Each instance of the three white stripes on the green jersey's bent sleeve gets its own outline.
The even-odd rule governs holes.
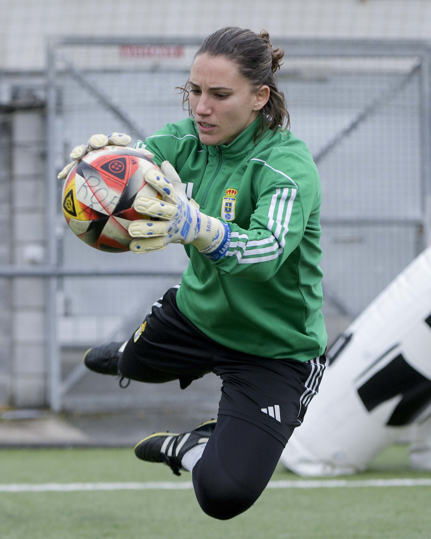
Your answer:
[[[226,255],[230,257],[235,255],[239,264],[254,264],[279,257],[286,244],[285,236],[289,232],[296,193],[295,188],[275,189],[268,210],[268,230],[271,235],[263,239],[249,240],[247,234],[232,232],[230,248]]]

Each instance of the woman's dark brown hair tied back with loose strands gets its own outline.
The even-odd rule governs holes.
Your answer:
[[[234,60],[239,65],[241,74],[256,89],[263,85],[269,86],[269,99],[260,110],[261,125],[254,134],[255,141],[268,129],[289,128],[286,101],[284,94],[277,88],[275,77],[275,72],[282,65],[284,52],[280,47],[273,48],[267,31],[262,30],[260,34],[256,34],[248,29],[226,26],[208,36],[194,58],[199,54],[224,56]],[[186,84],[179,89],[183,92],[183,103],[188,104],[189,86]],[[191,114],[190,107],[189,113]]]

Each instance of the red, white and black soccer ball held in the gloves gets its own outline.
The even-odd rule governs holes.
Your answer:
[[[84,156],[67,175],[61,194],[72,232],[100,251],[129,251],[130,222],[150,219],[134,210],[136,195],[162,198],[145,182],[150,169],[158,170],[156,163],[133,148],[107,146]]]

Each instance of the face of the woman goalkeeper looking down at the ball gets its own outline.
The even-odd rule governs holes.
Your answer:
[[[223,56],[199,54],[190,71],[189,103],[200,141],[207,146],[231,143],[258,116],[269,99],[269,87],[258,91]]]

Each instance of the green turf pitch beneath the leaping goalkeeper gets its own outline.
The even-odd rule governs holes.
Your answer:
[[[129,449],[0,450],[0,483],[190,481]],[[431,478],[394,446],[354,480]],[[298,479],[278,467],[274,480]],[[431,487],[267,489],[217,521],[193,490],[0,493],[1,539],[429,539]]]

